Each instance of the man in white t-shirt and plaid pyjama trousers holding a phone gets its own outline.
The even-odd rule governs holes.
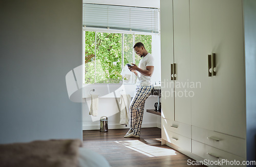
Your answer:
[[[134,45],[134,51],[142,59],[138,66],[132,64],[129,66],[130,71],[134,72],[137,76],[137,87],[135,90],[135,96],[130,104],[130,130],[124,137],[140,137],[140,130],[142,124],[142,118],[144,113],[144,105],[148,96],[151,94],[153,85],[151,83],[151,76],[154,72],[154,59],[153,56],[148,53],[143,43],[138,42]]]

